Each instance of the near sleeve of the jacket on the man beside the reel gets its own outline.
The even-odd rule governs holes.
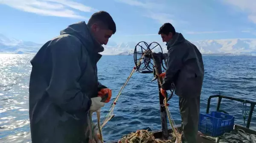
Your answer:
[[[183,49],[181,47],[174,47],[169,49],[166,65],[166,76],[163,79],[162,89],[170,90],[171,84],[175,76],[183,66]]]

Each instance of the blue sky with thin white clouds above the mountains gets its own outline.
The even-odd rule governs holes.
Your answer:
[[[44,43],[99,10],[116,22],[117,43],[160,41],[164,22],[192,41],[256,38],[255,0],[0,0],[0,33]]]

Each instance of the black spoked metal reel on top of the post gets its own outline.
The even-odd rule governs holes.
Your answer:
[[[148,43],[141,41],[139,42],[134,49],[134,64],[137,68],[137,71],[142,73],[143,70],[148,70],[148,72],[152,72],[154,62],[151,57],[144,57],[145,53],[163,53],[162,47],[157,42],[152,42],[148,45]],[[151,55],[151,54],[149,54]],[[163,66],[163,63],[162,63]],[[166,68],[163,66],[166,70]],[[144,71],[145,73],[145,71]]]

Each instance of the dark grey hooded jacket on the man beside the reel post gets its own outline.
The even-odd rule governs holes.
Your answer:
[[[170,90],[175,84],[175,94],[184,97],[197,97],[201,95],[204,79],[204,63],[198,48],[186,40],[182,34],[176,33],[167,42],[168,54],[166,77],[162,88]]]

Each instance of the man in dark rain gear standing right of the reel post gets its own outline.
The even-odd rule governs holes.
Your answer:
[[[200,95],[204,79],[204,63],[198,48],[177,33],[170,23],[160,27],[158,34],[167,45],[166,72],[161,93],[172,89],[175,85],[175,94],[179,96],[180,115],[182,120],[182,142],[196,143],[198,133],[198,119],[200,110]]]

